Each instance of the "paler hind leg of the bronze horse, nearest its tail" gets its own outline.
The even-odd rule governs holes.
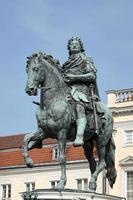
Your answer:
[[[91,180],[89,182],[89,189],[95,191],[96,187],[97,187],[97,177],[99,175],[100,172],[102,172],[105,168],[106,168],[106,163],[105,163],[105,151],[106,148],[105,147],[101,147],[98,150],[98,154],[99,154],[99,162],[98,165],[96,167],[95,172],[91,175]]]

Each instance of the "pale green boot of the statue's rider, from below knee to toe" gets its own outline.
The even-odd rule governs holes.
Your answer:
[[[74,140],[74,146],[82,146],[84,144],[84,131],[86,128],[87,119],[86,117],[77,119],[77,134],[76,139]]]

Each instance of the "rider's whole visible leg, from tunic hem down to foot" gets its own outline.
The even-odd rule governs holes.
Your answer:
[[[77,111],[77,134],[76,139],[74,141],[74,146],[80,146],[84,144],[84,131],[87,124],[85,108],[82,104],[76,105]]]

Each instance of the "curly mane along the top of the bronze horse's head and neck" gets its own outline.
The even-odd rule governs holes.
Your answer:
[[[45,59],[52,66],[55,66],[56,68],[58,68],[61,71],[61,65],[60,65],[59,60],[54,59],[53,56],[51,56],[51,55],[48,55],[48,54],[43,53],[41,51],[39,51],[38,53],[33,53],[31,56],[27,57],[27,65],[30,64],[30,62],[33,59],[38,59],[39,61],[43,61],[43,59]]]

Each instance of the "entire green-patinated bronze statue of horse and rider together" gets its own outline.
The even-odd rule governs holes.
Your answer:
[[[115,144],[112,137],[113,118],[109,108],[100,102],[96,68],[85,55],[82,41],[71,38],[69,58],[60,66],[51,55],[39,52],[27,60],[26,93],[37,95],[41,90],[36,112],[38,129],[24,137],[23,156],[28,167],[33,167],[28,150],[38,148],[46,138],[59,143],[60,181],[56,188],[63,190],[66,177],[65,148],[67,141],[82,145],[91,170],[89,189],[96,190],[98,174],[106,169],[106,177],[113,187],[116,179]],[[96,145],[99,162],[93,156]]]

